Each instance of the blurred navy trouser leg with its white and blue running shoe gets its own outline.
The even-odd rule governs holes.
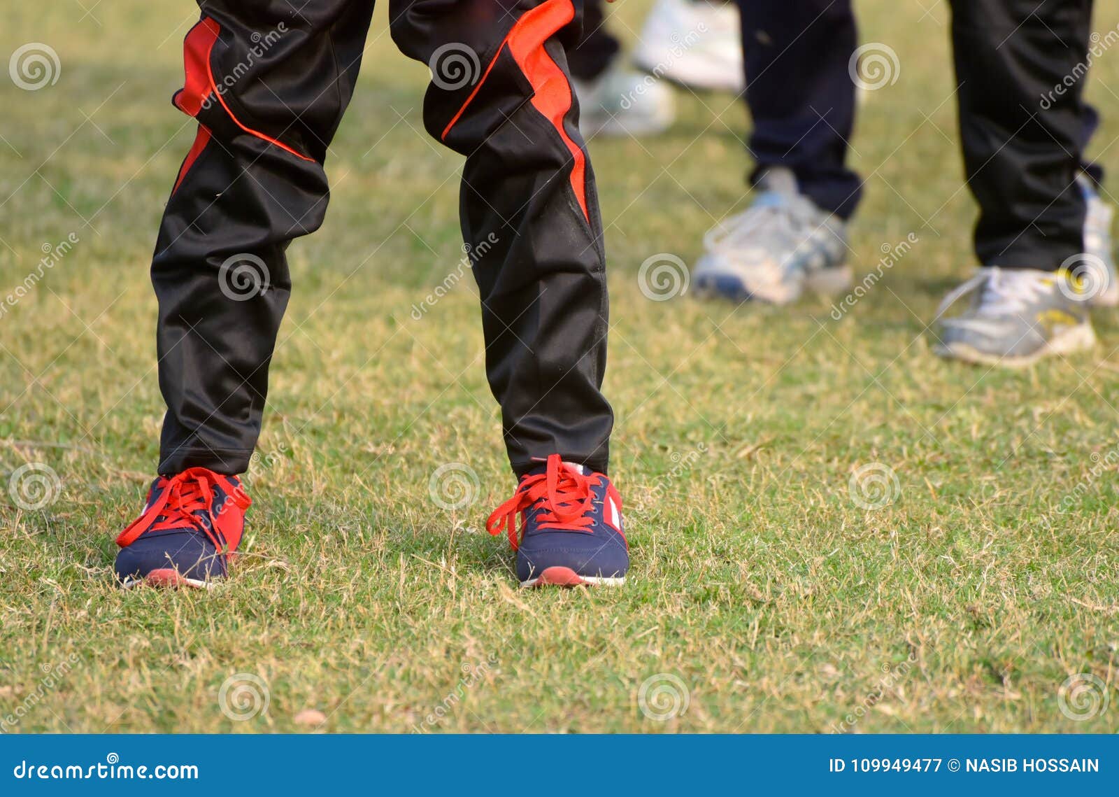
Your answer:
[[[752,205],[705,238],[700,296],[783,304],[850,283],[846,222],[862,196],[847,168],[855,120],[850,0],[740,0]]]

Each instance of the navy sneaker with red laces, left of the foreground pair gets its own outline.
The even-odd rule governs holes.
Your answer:
[[[190,468],[160,476],[143,514],[116,537],[116,579],[124,588],[210,587],[224,579],[252,500],[236,476]]]

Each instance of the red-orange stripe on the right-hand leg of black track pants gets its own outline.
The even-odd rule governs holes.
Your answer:
[[[498,47],[493,60],[486,67],[481,79],[474,86],[474,91],[470,93],[462,107],[443,130],[441,139],[446,140],[451,128],[455,125],[486,83],[486,78],[501,55],[501,50],[508,47],[513,59],[517,62],[517,66],[520,67],[533,86],[533,106],[552,123],[552,126],[560,133],[564,146],[571,151],[575,161],[571,169],[571,187],[575,191],[575,199],[583,210],[583,216],[590,222],[591,216],[586,209],[586,156],[564,129],[564,119],[572,109],[574,93],[564,71],[544,49],[544,43],[574,18],[575,7],[572,4],[572,0],[546,0],[530,11],[526,11],[514,24],[501,46]]]

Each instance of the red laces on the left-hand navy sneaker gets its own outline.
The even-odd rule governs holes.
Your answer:
[[[217,533],[218,516],[214,514],[214,486],[222,478],[208,468],[188,468],[167,479],[162,485],[163,491],[159,498],[140,517],[130,523],[128,528],[121,532],[120,536],[116,537],[116,544],[126,547],[137,537],[149,531],[196,527],[201,528],[214,546],[222,551],[225,547],[225,541]],[[239,486],[232,491],[227,486],[223,486],[223,489],[229,496],[226,504],[223,505],[223,510],[229,501],[243,512],[253,503]],[[200,523],[195,514],[199,509],[209,516],[208,526]],[[157,522],[160,515],[163,516],[163,519]]]

